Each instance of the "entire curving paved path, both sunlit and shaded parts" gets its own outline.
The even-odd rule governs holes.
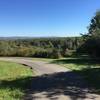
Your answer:
[[[24,100],[100,100],[91,93],[78,74],[56,64],[32,61],[32,58],[1,57],[0,60],[21,63],[36,72]]]

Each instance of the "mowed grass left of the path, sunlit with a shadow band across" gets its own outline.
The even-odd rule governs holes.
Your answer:
[[[24,65],[0,61],[0,100],[21,100],[32,74],[32,70]]]

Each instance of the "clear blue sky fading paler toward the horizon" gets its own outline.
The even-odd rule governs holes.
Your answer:
[[[0,0],[0,36],[78,36],[100,0]]]

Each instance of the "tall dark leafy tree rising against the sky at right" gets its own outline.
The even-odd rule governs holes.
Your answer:
[[[87,53],[91,56],[100,57],[100,11],[97,11],[91,19],[88,33],[83,37],[85,42],[80,46],[78,51]]]

